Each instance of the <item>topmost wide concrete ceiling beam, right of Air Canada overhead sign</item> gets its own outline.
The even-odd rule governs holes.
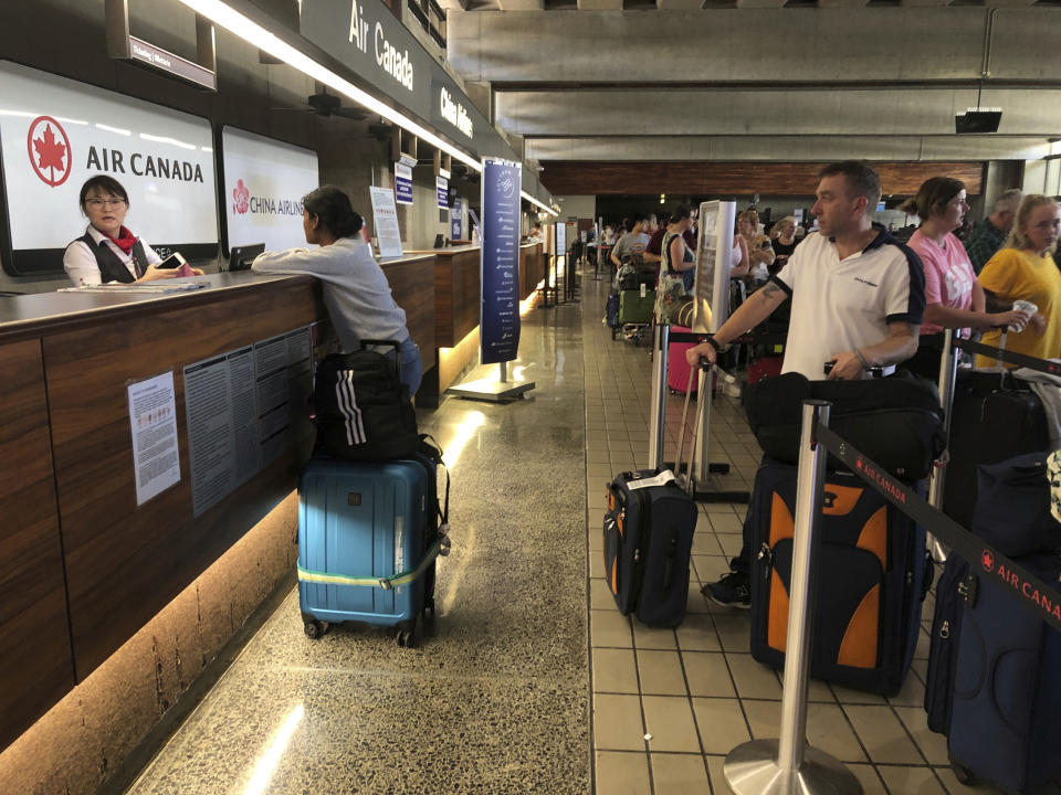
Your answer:
[[[612,9],[621,4],[607,1]],[[641,83],[903,83],[979,80],[986,17],[975,7],[477,12],[453,14],[447,39],[450,63],[462,75],[494,84],[609,82],[618,75]],[[991,77],[1061,74],[1059,35],[1058,9],[998,11]]]

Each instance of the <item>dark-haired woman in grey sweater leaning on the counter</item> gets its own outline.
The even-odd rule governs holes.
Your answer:
[[[406,312],[395,303],[387,276],[358,234],[361,216],[354,212],[346,193],[332,186],[304,195],[302,206],[306,243],[319,248],[265,252],[251,267],[260,273],[317,277],[344,351],[358,350],[363,339],[401,342],[401,380],[412,398],[423,375],[420,349],[409,337]]]

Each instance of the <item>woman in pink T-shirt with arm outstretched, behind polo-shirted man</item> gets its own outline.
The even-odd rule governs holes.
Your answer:
[[[939,378],[944,329],[959,329],[960,336],[968,337],[970,328],[978,331],[1009,325],[1023,328],[1028,316],[1012,310],[985,311],[984,290],[977,284],[965,246],[954,235],[969,210],[965,183],[949,177],[933,177],[900,209],[921,219],[921,226],[910,239],[910,247],[917,252],[925,268],[921,341],[914,358],[904,367],[935,381]]]

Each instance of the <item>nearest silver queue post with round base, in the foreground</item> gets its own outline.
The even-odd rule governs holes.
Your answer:
[[[862,785],[848,767],[807,743],[807,680],[813,632],[810,592],[820,540],[827,452],[815,441],[818,423],[829,425],[829,403],[805,401],[800,430],[796,530],[792,550],[785,690],[778,740],[753,740],[726,756],[726,783],[737,795],[859,795]]]

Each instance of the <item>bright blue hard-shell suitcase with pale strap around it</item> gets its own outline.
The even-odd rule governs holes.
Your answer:
[[[434,563],[449,549],[445,529],[435,462],[428,456],[309,460],[298,486],[298,603],[306,635],[363,622],[397,627],[398,645],[414,645],[418,618],[434,613]]]

